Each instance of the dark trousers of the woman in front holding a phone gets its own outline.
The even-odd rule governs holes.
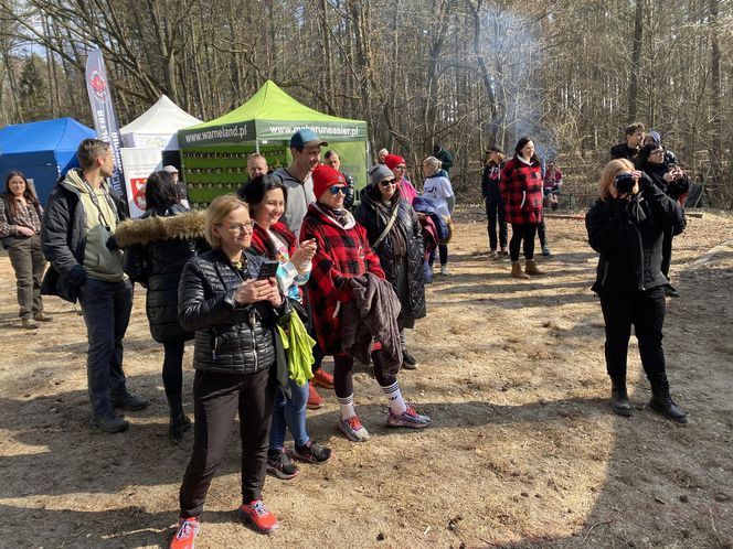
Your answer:
[[[181,517],[201,515],[237,411],[242,438],[242,503],[262,498],[275,384],[268,368],[256,374],[196,370],[193,451],[181,485]]]

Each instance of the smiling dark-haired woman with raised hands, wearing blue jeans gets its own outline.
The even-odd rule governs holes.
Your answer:
[[[255,220],[251,251],[280,262],[277,279],[284,293],[302,303],[300,287],[310,277],[310,260],[316,252],[316,243],[306,241],[297,246],[295,235],[280,222],[287,202],[287,189],[270,175],[253,179],[245,189],[244,200],[249,205],[249,215]],[[295,314],[295,313],[291,313]],[[308,365],[310,370],[310,365]],[[312,372],[310,373],[312,375]],[[306,405],[308,381],[288,379],[290,395],[283,389],[275,394],[273,420],[269,428],[267,473],[277,478],[289,480],[298,475],[298,467],[285,451],[285,431],[290,429],[295,448],[293,456],[306,462],[321,464],[331,458],[331,449],[319,444],[308,435]]]

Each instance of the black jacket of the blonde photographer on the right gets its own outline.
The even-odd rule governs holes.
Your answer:
[[[596,293],[649,290],[669,281],[660,270],[662,235],[684,230],[679,204],[665,195],[647,176],[631,202],[597,200],[585,215],[591,247],[601,254]]]

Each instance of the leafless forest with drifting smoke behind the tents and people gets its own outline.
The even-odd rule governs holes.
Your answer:
[[[0,0],[0,126],[92,126],[84,67],[100,47],[120,126],[161,94],[210,120],[269,78],[366,120],[373,154],[386,147],[414,168],[442,143],[458,193],[478,186],[487,147],[509,152],[523,134],[592,193],[639,120],[733,207],[732,3]]]

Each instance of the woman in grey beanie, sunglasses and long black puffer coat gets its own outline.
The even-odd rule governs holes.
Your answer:
[[[407,351],[405,329],[425,316],[425,278],[423,276],[423,235],[417,214],[402,200],[395,176],[385,165],[370,170],[371,184],[361,195],[354,212],[366,229],[369,244],[380,258],[384,276],[392,283],[402,311],[397,319],[403,367],[415,369],[417,360]]]

